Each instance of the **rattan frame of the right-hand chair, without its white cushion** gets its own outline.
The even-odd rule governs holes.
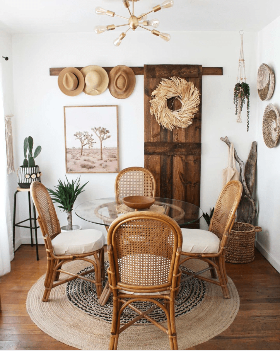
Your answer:
[[[208,267],[196,273],[189,273],[182,270],[189,277],[184,278],[186,280],[190,277],[199,278],[205,280],[206,282],[214,283],[222,288],[224,298],[230,298],[228,290],[228,279],[225,266],[225,252],[228,236],[231,233],[234,221],[235,212],[239,205],[242,195],[242,184],[238,180],[229,181],[222,189],[219,198],[215,204],[213,216],[210,221],[209,231],[214,233],[220,239],[220,246],[218,252],[216,253],[189,253],[184,252],[184,245],[182,249],[182,256],[184,258],[181,260],[180,265],[185,261],[197,258],[208,263]],[[195,229],[193,230],[195,232]],[[184,229],[182,229],[183,241],[188,240],[187,236],[184,234]],[[210,270],[211,277],[205,277],[201,274]],[[218,276],[218,277],[217,277]],[[182,280],[182,281],[183,281]]]

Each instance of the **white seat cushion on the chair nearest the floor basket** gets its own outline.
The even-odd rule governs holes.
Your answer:
[[[220,239],[209,230],[182,228],[182,251],[189,253],[217,253]]]

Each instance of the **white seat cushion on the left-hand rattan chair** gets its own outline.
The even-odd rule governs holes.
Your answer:
[[[52,240],[55,255],[72,255],[101,249],[105,244],[104,234],[100,230],[69,230],[58,234]]]

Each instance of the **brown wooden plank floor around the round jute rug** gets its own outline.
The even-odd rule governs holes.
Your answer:
[[[76,350],[42,332],[26,312],[27,293],[46,270],[43,245],[39,258],[35,246],[21,245],[11,272],[1,277],[0,350]],[[239,312],[227,330],[192,349],[280,349],[280,274],[258,251],[251,263],[226,266],[239,292]]]

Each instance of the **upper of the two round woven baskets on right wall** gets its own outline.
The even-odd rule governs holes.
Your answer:
[[[266,64],[261,64],[258,69],[257,88],[262,101],[269,100],[272,97],[274,91],[274,73]]]

